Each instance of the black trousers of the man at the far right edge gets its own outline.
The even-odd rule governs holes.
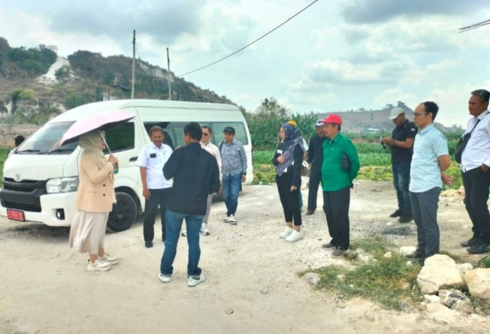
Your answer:
[[[481,167],[463,172],[465,206],[473,224],[473,237],[490,242],[490,214],[486,201],[489,199],[490,171]]]

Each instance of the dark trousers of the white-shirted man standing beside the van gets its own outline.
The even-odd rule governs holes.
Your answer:
[[[153,241],[155,232],[155,216],[157,215],[158,206],[160,206],[160,215],[162,219],[162,240],[165,240],[165,211],[167,211],[167,202],[169,201],[172,188],[165,189],[148,189],[150,198],[145,200],[145,217],[143,220],[143,237],[145,241]]]

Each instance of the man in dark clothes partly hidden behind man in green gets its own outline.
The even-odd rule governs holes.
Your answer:
[[[323,131],[323,120],[315,123],[316,136],[309,139],[308,163],[309,169],[309,186],[308,186],[308,211],[307,215],[314,214],[316,210],[316,195],[318,186],[321,182],[321,164],[323,163],[323,142],[327,137]]]

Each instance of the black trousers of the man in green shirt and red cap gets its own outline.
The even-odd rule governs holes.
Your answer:
[[[323,211],[327,216],[330,244],[344,250],[349,249],[349,204],[351,188],[323,192]]]

